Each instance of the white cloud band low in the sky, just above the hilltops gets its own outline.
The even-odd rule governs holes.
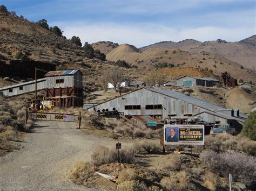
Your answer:
[[[109,40],[118,44],[131,44],[142,47],[159,41],[180,41],[196,39],[199,41],[225,39],[239,41],[255,34],[253,27],[183,27],[174,28],[158,24],[115,24],[115,23],[74,23],[72,26],[59,24],[64,36],[78,36],[82,42],[96,43]]]

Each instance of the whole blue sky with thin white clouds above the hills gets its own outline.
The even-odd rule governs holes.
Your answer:
[[[46,19],[67,38],[142,47],[159,41],[239,41],[256,32],[251,0],[0,0],[31,21]]]

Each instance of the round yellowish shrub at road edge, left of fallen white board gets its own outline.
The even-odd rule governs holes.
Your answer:
[[[78,184],[82,184],[93,175],[93,168],[88,162],[77,163],[69,174],[69,178]]]

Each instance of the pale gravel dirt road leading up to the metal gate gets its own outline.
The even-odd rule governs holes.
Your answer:
[[[76,123],[37,122],[21,150],[0,158],[0,189],[79,189],[68,179],[73,164],[90,160],[100,145],[114,140],[83,135]]]

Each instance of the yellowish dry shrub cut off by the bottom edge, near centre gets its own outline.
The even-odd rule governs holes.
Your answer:
[[[140,190],[140,191],[146,191],[147,190],[147,186],[144,182],[139,182],[137,181],[125,181],[120,183],[117,186],[117,190],[126,190],[126,191],[133,191],[133,190]]]

